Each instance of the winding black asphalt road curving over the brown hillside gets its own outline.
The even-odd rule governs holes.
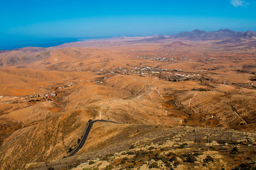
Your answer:
[[[84,135],[83,135],[83,138],[82,140],[80,141],[79,145],[76,147],[76,149],[72,150],[72,152],[67,156],[67,157],[71,157],[73,155],[75,155],[83,146],[84,146],[84,143],[92,129],[92,125],[95,123],[95,122],[111,122],[111,123],[114,123],[114,124],[121,124],[121,123],[118,123],[118,122],[113,122],[113,121],[110,121],[110,120],[92,120],[91,122],[89,122],[87,128],[86,128],[86,131],[84,132]]]

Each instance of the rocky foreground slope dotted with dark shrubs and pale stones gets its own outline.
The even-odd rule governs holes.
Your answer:
[[[127,134],[92,152],[26,164],[26,169],[253,169],[255,137],[223,128],[131,125]]]

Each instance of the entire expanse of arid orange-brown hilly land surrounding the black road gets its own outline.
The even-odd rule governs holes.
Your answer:
[[[1,169],[252,165],[254,40],[223,44],[220,39],[157,36],[141,41],[148,38],[93,39],[0,53]],[[97,122],[83,148],[63,158],[95,119],[122,124]],[[177,160],[170,160],[170,152]],[[208,155],[214,162],[205,160]]]

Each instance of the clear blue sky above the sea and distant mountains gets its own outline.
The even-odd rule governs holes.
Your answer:
[[[0,41],[256,31],[256,0],[1,0]]]

